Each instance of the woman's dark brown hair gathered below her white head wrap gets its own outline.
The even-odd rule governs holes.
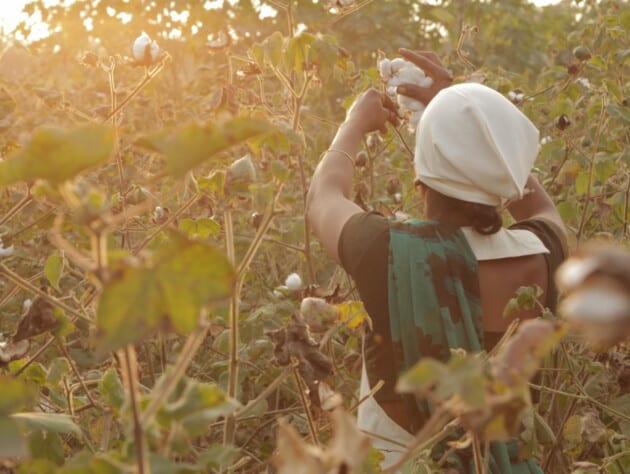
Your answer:
[[[449,221],[459,226],[471,226],[483,235],[494,234],[503,226],[501,215],[494,206],[452,198],[425,184],[422,187],[424,198],[430,202],[435,215],[448,216]]]

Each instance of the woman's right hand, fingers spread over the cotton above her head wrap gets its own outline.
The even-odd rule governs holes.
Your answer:
[[[403,58],[414,63],[422,69],[427,76],[433,79],[433,84],[430,87],[420,87],[415,84],[402,84],[396,89],[397,93],[419,100],[424,105],[428,105],[438,92],[450,86],[451,82],[453,82],[453,76],[442,65],[442,62],[435,53],[431,51],[412,51],[405,48],[399,49],[398,52]]]

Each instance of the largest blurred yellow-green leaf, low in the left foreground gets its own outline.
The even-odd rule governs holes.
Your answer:
[[[138,341],[164,323],[188,334],[197,327],[202,307],[230,295],[234,270],[222,252],[175,232],[169,235],[151,261],[121,266],[103,289],[97,310],[101,354]]]

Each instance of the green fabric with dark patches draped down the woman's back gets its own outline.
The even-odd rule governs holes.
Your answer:
[[[482,307],[477,260],[457,227],[409,220],[390,228],[388,304],[395,356],[408,369],[421,357],[445,361],[451,348],[480,351]],[[431,407],[417,401],[422,419]],[[532,460],[517,460],[517,444],[492,443],[493,474],[543,474]],[[474,473],[470,458],[454,460]]]

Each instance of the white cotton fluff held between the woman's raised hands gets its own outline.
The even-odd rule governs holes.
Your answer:
[[[407,118],[409,130],[415,131],[424,112],[424,104],[411,97],[396,94],[396,88],[402,84],[416,84],[420,87],[431,87],[433,79],[411,61],[403,58],[382,59],[378,65],[381,78],[386,82],[387,93],[396,95],[399,113]]]

